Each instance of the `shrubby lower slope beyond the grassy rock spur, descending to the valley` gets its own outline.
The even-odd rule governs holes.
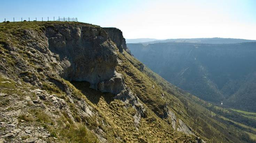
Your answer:
[[[139,68],[140,62],[129,54],[125,55],[135,67]],[[165,101],[169,106],[184,119],[185,122],[203,136],[207,136],[212,142],[254,142],[256,133],[251,131],[253,127],[244,128],[244,124],[239,123],[238,126],[222,120],[223,116],[232,115],[226,114],[227,109],[214,106],[208,102],[186,93],[185,91],[171,85],[162,77],[152,72],[147,67],[143,72],[154,80],[165,91]],[[180,103],[180,101],[182,103]],[[185,106],[182,106],[185,105]],[[217,110],[216,110],[217,109]],[[191,118],[187,118],[191,117]],[[241,117],[236,115],[235,117]],[[235,119],[234,117],[232,119]],[[232,122],[235,122],[232,120]],[[253,122],[254,123],[254,122]],[[253,125],[253,123],[251,125]],[[248,126],[247,126],[248,127]],[[248,133],[250,132],[250,133]]]

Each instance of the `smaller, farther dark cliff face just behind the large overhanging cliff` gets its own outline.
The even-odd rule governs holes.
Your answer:
[[[123,32],[118,28],[105,27],[103,28],[107,33],[110,39],[116,43],[119,52],[123,52],[125,50],[127,53],[131,55],[131,51],[126,46],[125,38],[123,37]]]

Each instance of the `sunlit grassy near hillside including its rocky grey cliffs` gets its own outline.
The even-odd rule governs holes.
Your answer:
[[[0,50],[1,142],[255,142],[255,120],[162,79],[117,28],[0,24]]]

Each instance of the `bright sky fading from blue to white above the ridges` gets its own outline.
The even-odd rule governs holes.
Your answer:
[[[77,17],[125,38],[256,40],[256,0],[5,0],[0,20]]]

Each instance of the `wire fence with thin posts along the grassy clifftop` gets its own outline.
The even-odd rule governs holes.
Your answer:
[[[12,17],[12,18],[1,18],[0,22],[3,23],[15,23],[15,22],[25,22],[25,21],[67,21],[67,22],[78,22],[77,17]]]

